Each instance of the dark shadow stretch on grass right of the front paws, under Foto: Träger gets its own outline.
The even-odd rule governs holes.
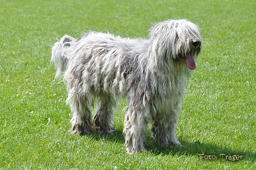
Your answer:
[[[227,147],[219,147],[217,144],[206,144],[200,141],[181,141],[182,147],[158,147],[150,141],[146,148],[154,155],[177,155],[177,156],[197,156],[199,160],[222,160],[222,161],[250,161],[256,162],[256,155],[252,151],[239,151]]]

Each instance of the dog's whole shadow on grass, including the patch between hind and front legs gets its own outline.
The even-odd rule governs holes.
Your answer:
[[[90,135],[94,140],[107,140],[113,143],[125,143],[125,138],[121,129],[115,129],[113,135],[102,135],[93,133]],[[181,147],[159,147],[150,136],[146,133],[146,149],[153,155],[173,155],[173,156],[196,156],[199,160],[223,160],[223,161],[250,161],[255,162],[255,153],[252,151],[242,151],[228,147],[220,147],[218,144],[206,144],[201,141],[180,140]],[[234,156],[235,155],[235,156]],[[231,157],[230,157],[231,156]]]

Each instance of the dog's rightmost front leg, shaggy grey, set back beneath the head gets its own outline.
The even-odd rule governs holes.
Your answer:
[[[181,145],[175,133],[177,122],[178,115],[175,111],[166,114],[158,113],[154,116],[151,132],[152,137],[160,146]]]

